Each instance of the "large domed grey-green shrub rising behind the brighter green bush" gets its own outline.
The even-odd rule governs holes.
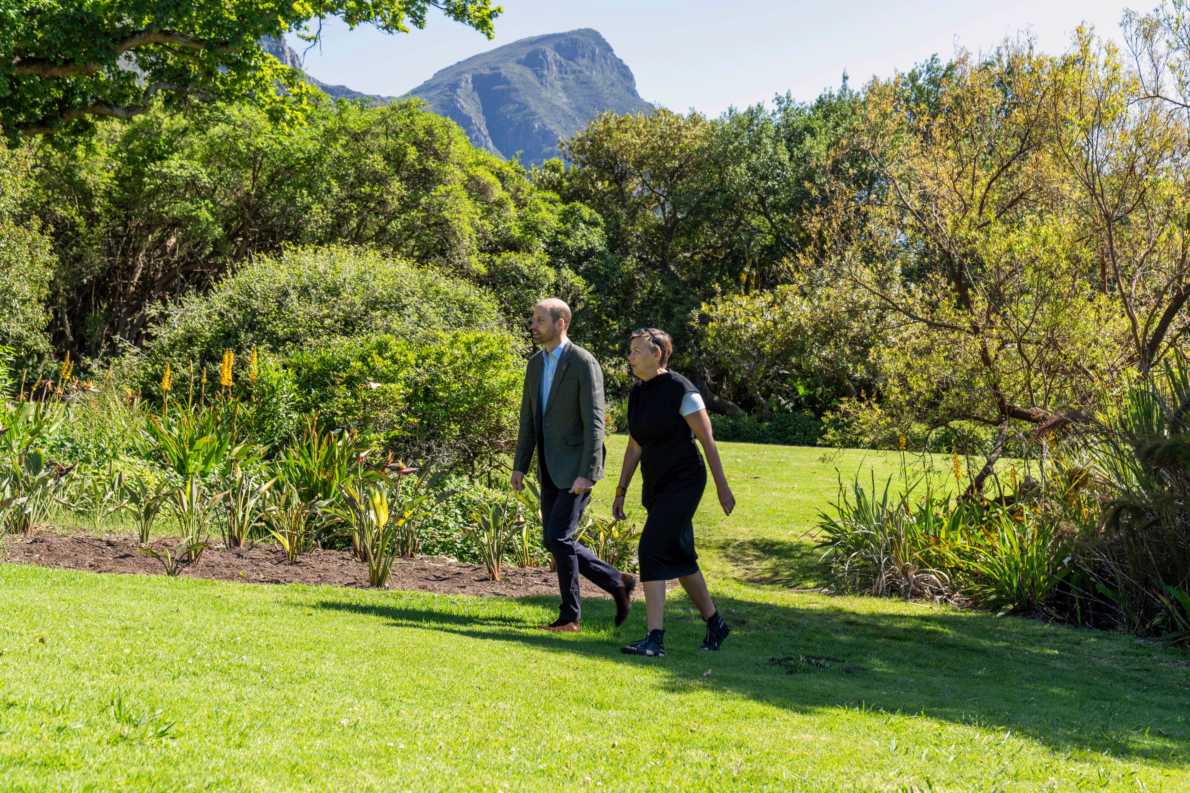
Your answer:
[[[337,336],[386,333],[421,339],[452,329],[497,332],[499,307],[483,289],[406,259],[352,247],[294,247],[259,257],[211,291],[167,309],[137,357],[140,382],[156,392],[165,361],[175,372],[214,372],[225,350],[287,353]],[[182,388],[178,382],[175,389]]]

